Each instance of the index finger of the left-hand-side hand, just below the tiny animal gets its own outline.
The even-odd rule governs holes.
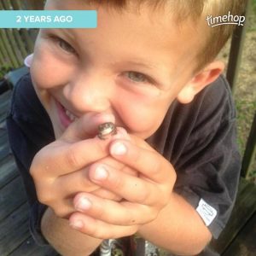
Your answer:
[[[73,144],[55,141],[42,148],[32,160],[32,177],[40,179],[43,175],[51,179],[82,169],[106,157],[108,143],[97,137]]]

